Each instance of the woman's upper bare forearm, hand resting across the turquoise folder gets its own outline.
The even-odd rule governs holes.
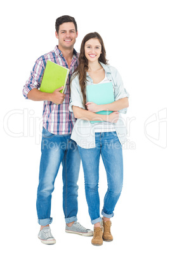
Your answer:
[[[86,106],[88,110],[92,112],[98,112],[102,110],[119,111],[119,110],[122,110],[123,108],[128,108],[129,101],[128,101],[128,97],[124,97],[123,99],[118,99],[117,101],[114,101],[113,103],[109,103],[109,104],[98,105],[95,103],[88,102],[86,103]]]

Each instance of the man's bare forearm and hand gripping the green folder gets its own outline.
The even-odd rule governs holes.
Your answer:
[[[28,93],[28,99],[32,101],[52,101],[55,104],[62,104],[65,99],[65,94],[62,94],[60,90],[63,86],[56,89],[53,93],[41,92],[38,89],[32,89]]]

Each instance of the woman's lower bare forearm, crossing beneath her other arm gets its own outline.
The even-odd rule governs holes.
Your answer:
[[[72,110],[75,118],[89,121],[107,121],[110,123],[116,123],[119,119],[119,112],[112,112],[110,115],[99,115],[93,113],[93,111],[83,110],[77,106],[72,106]]]

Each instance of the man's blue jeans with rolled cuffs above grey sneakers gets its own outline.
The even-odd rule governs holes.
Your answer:
[[[77,180],[81,158],[70,134],[55,135],[43,128],[41,143],[39,186],[37,189],[37,216],[40,225],[51,224],[51,194],[58,169],[63,166],[63,211],[65,222],[77,220]]]

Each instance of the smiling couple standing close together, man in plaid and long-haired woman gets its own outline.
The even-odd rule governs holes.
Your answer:
[[[55,27],[58,46],[36,60],[23,88],[26,99],[44,101],[42,153],[37,189],[37,216],[41,225],[38,238],[45,244],[56,243],[49,227],[53,220],[50,215],[51,194],[62,163],[65,231],[93,236],[91,243],[102,245],[103,240],[113,239],[110,218],[114,216],[115,204],[122,190],[121,145],[126,139],[126,127],[122,124],[119,112],[126,113],[128,92],[124,89],[117,70],[107,65],[105,47],[98,33],[89,33],[84,37],[78,55],[74,50],[78,36],[75,19],[67,15],[59,17]],[[39,91],[47,60],[70,69],[64,94],[60,93],[61,87],[51,94]],[[86,85],[105,82],[112,82],[115,101],[105,105],[87,102]],[[110,115],[95,113],[101,110],[113,112]],[[91,120],[103,122],[91,124]],[[103,219],[100,217],[98,195],[100,153],[108,181],[101,213]],[[95,225],[94,233],[77,222],[77,180],[81,160],[89,215],[91,223]]]

